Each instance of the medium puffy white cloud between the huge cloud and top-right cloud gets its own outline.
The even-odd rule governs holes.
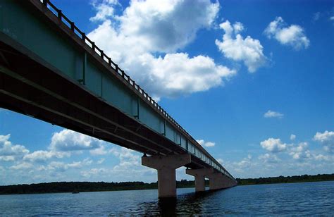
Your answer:
[[[240,35],[244,30],[242,23],[231,25],[228,20],[219,25],[225,31],[223,41],[216,39],[218,49],[226,58],[233,61],[243,61],[250,73],[266,63],[266,56],[263,53],[263,46],[258,39],[247,36],[245,39]]]

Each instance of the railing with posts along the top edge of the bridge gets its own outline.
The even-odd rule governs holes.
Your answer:
[[[87,35],[85,34],[85,32],[82,32],[73,21],[71,21],[68,17],[66,17],[63,12],[57,8],[54,4],[51,3],[50,0],[39,0],[46,8],[49,9],[49,11],[51,11],[52,13],[54,13],[54,15],[56,17],[58,17],[58,20],[60,20],[63,24],[65,24],[68,28],[70,28],[70,30],[72,32],[75,33],[75,35],[77,37],[79,37],[80,39],[82,39],[82,41],[85,42],[85,44],[87,44],[87,46],[89,46],[97,55],[99,55],[101,57],[101,59],[103,61],[105,61],[106,63],[108,63],[108,65],[113,68],[113,70],[116,71],[116,73],[123,78],[123,80],[125,80],[126,82],[128,82],[128,84],[130,84],[132,87],[134,87],[135,91],[137,91],[137,93],[139,93],[140,95],[142,95],[142,97],[144,97],[144,99],[151,104],[152,106],[154,106],[159,113],[164,116],[165,118],[167,118],[168,120],[171,121],[171,123],[174,125],[175,128],[178,128],[178,130],[180,130],[181,132],[183,132],[185,135],[187,135],[188,137],[191,137],[191,135],[185,131],[185,129],[183,129],[183,127],[181,127],[180,124],[178,124],[161,106],[159,106],[159,104],[156,103],[156,101],[154,101],[154,99],[152,99],[149,94],[147,94],[147,92],[144,91],[144,89],[142,89],[142,87],[140,87],[140,85],[137,85],[137,83],[135,82],[135,80],[132,80],[130,78],[129,75],[127,75],[125,73],[124,70],[122,70],[118,64],[114,63],[111,58],[109,56],[107,56],[104,51],[102,49],[100,49],[95,42],[93,42],[91,39],[89,39],[87,37]],[[198,144],[199,145],[199,144]],[[200,145],[199,145],[200,146]],[[216,161],[216,159],[214,159]],[[218,163],[219,164],[219,163]],[[235,178],[233,178],[232,175],[230,175],[230,173],[228,173],[228,171],[225,170],[225,168],[223,168],[223,166],[218,165],[217,163],[215,163],[215,166],[213,166],[214,168],[216,168],[218,171],[221,171],[222,173],[224,173],[225,175],[227,175],[229,178],[231,178],[232,180],[235,180]],[[235,180],[236,182],[236,180]]]

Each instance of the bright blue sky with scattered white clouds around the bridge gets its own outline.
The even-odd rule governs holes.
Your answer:
[[[334,1],[52,2],[235,178],[334,173]],[[0,110],[0,185],[156,181],[140,157]]]

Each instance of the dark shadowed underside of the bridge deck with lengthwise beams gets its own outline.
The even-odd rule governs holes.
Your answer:
[[[89,93],[84,86],[54,73],[56,68],[6,35],[0,33],[0,37],[1,107],[150,155],[187,153]],[[192,162],[186,166],[209,165],[192,156]]]

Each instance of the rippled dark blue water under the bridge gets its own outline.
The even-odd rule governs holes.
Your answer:
[[[204,194],[187,188],[169,202],[157,195],[157,190],[0,195],[0,215],[334,215],[334,182],[237,186]]]

